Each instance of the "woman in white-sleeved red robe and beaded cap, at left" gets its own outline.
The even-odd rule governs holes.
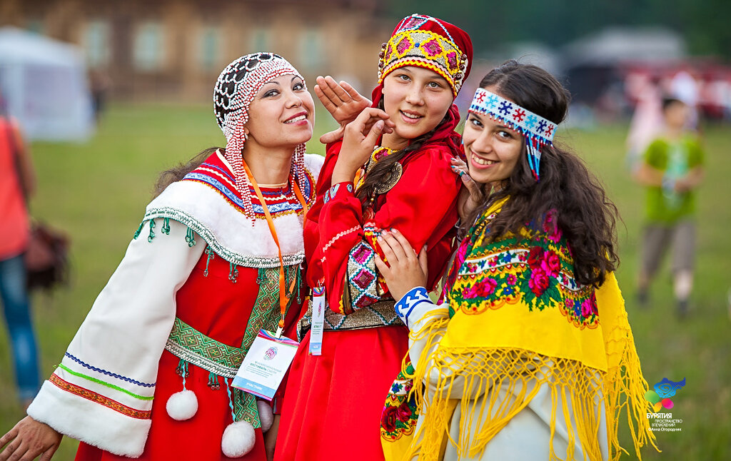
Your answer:
[[[291,337],[303,303],[303,218],[322,166],[304,153],[314,102],[272,53],[233,61],[213,99],[225,150],[148,205],[0,460],[50,459],[61,434],[82,442],[77,460],[266,459],[269,404],[230,384],[260,329],[283,319]]]

